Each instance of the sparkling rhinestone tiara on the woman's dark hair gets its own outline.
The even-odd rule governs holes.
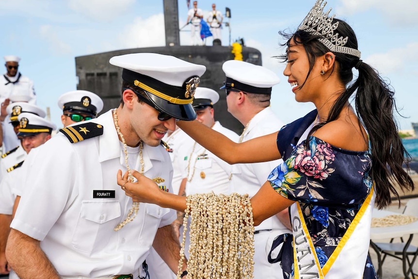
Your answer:
[[[348,37],[338,37],[338,33],[334,33],[338,28],[339,21],[332,23],[335,16],[329,17],[332,8],[324,13],[323,9],[325,8],[326,2],[323,5],[322,2],[323,0],[316,1],[298,30],[321,36],[318,41],[333,52],[350,54],[360,58],[361,52],[358,49],[344,47]]]

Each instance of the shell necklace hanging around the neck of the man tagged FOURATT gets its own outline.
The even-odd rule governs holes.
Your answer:
[[[120,131],[120,127],[118,124],[118,120],[117,120],[117,115],[116,115],[116,109],[113,110],[113,122],[114,122],[114,126],[116,127],[116,131],[118,133],[118,135],[120,136],[120,139],[122,141],[123,144],[123,152],[125,153],[125,164],[126,164],[126,168],[128,170],[128,181],[133,182],[133,176],[132,176],[132,171],[129,168],[129,164],[128,164],[128,150],[127,150],[127,144],[125,142],[125,138],[122,134],[122,132]],[[141,171],[139,172],[140,174],[144,174],[144,158],[142,156],[142,149],[144,148],[144,143],[141,140],[139,142],[139,160],[141,163]],[[126,217],[126,219],[119,223],[119,225],[117,225],[113,230],[118,231],[120,229],[122,229],[126,224],[128,224],[129,222],[133,221],[133,219],[135,219],[135,216],[138,214],[138,210],[139,210],[139,202],[132,202],[132,208],[129,210],[128,212],[128,216]]]

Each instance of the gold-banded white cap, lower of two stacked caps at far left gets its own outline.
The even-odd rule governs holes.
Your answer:
[[[17,116],[17,119],[20,123],[19,132],[17,133],[18,137],[33,136],[41,132],[50,134],[57,129],[57,126],[51,121],[31,113],[21,113]]]

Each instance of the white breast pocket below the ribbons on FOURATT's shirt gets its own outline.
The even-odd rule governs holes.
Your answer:
[[[161,218],[170,212],[168,208],[162,208],[155,204],[145,204],[144,226],[139,234],[140,246],[151,247],[155,233],[160,226]]]

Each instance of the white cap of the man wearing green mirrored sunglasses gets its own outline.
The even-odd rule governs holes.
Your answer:
[[[82,113],[96,117],[103,109],[103,100],[93,92],[74,90],[60,96],[58,107],[63,112]]]

